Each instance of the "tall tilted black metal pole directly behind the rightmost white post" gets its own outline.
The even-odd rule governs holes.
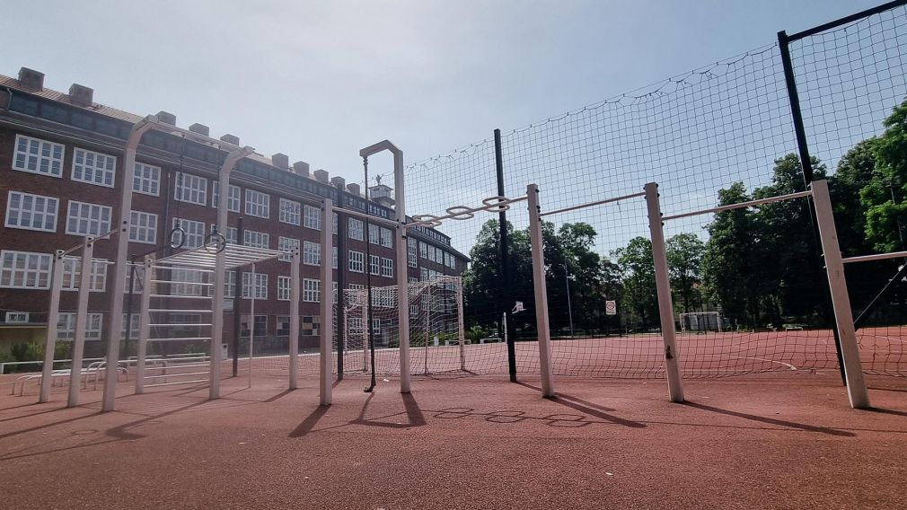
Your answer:
[[[803,171],[803,183],[805,190],[809,190],[810,183],[814,180],[813,162],[809,157],[809,146],[806,143],[806,130],[803,124],[803,113],[801,113],[800,111],[800,97],[797,94],[796,90],[794,64],[791,63],[790,39],[787,37],[787,34],[784,30],[778,32],[778,49],[781,51],[781,63],[783,64],[785,70],[787,98],[791,105],[791,116],[794,120],[794,132],[796,135],[797,150],[800,157],[800,168]],[[813,226],[813,250],[817,259],[820,260],[820,267],[824,267],[822,249],[819,247],[819,223],[815,220],[815,205],[813,203],[813,197],[809,197],[806,202],[809,207],[809,219]],[[838,329],[835,326],[836,323],[832,315],[831,289],[829,289],[827,285],[824,285],[823,287],[825,289],[823,303],[824,316],[825,320],[832,324],[832,333],[834,334],[834,350],[838,358],[838,370],[841,372],[841,381],[844,383],[844,386],[846,386],[847,378],[844,375],[844,357],[841,354],[841,337],[838,335]]]

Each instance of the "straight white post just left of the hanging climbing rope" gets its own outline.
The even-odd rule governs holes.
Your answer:
[[[334,207],[330,199],[321,202],[321,327],[320,356],[318,358],[318,400],[322,406],[331,405],[331,368],[334,358],[331,353],[331,344],[334,339],[334,256],[332,244],[334,232],[331,224],[334,221]]]

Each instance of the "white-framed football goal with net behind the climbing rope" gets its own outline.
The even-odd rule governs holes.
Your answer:
[[[375,374],[399,375],[397,287],[373,287],[370,311],[368,293],[368,289],[343,291],[342,313],[335,313],[335,352],[342,342],[345,374],[369,374],[369,341],[374,341]],[[465,370],[468,340],[463,331],[463,282],[460,277],[413,281],[408,284],[407,294],[412,373]],[[339,303],[336,304],[338,307]]]

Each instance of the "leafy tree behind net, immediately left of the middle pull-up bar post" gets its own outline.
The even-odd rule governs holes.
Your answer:
[[[635,312],[643,327],[658,318],[658,291],[655,287],[655,265],[652,241],[644,237],[629,240],[626,247],[614,251],[623,276],[623,300]]]

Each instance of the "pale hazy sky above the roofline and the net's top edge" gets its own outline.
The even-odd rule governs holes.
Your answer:
[[[4,0],[0,74],[360,180],[373,142],[423,160],[879,3]]]

